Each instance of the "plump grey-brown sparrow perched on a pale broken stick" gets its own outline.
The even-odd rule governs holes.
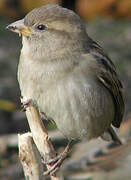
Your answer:
[[[123,85],[103,48],[72,10],[56,4],[33,9],[7,29],[22,35],[21,95],[71,141],[101,137],[121,144]]]

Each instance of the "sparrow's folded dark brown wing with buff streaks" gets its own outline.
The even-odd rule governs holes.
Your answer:
[[[119,128],[125,110],[123,86],[116,73],[116,69],[109,57],[104,53],[103,49],[93,40],[90,43],[90,53],[97,60],[99,73],[97,78],[103,86],[105,86],[113,97],[115,105],[115,118],[112,121],[113,126]]]

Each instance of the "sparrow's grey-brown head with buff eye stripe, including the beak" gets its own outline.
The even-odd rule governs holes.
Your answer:
[[[30,47],[41,52],[78,49],[86,46],[86,28],[80,17],[58,5],[47,5],[29,12],[24,19],[7,26],[23,36]]]

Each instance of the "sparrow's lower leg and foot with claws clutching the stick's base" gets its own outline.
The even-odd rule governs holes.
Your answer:
[[[52,167],[49,170],[47,170],[44,173],[44,175],[49,175],[49,174],[53,175],[54,173],[56,173],[56,171],[58,171],[58,169],[60,168],[61,164],[66,159],[66,156],[67,156],[67,154],[70,151],[70,146],[71,146],[72,142],[73,142],[73,140],[68,142],[65,150],[60,155],[58,155],[57,157],[49,160],[48,162],[44,162],[47,165],[51,165],[52,164]]]

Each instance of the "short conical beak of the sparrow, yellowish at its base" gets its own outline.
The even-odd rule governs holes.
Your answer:
[[[19,36],[29,36],[30,34],[32,34],[30,28],[24,25],[24,19],[8,25],[6,29],[18,33]]]

